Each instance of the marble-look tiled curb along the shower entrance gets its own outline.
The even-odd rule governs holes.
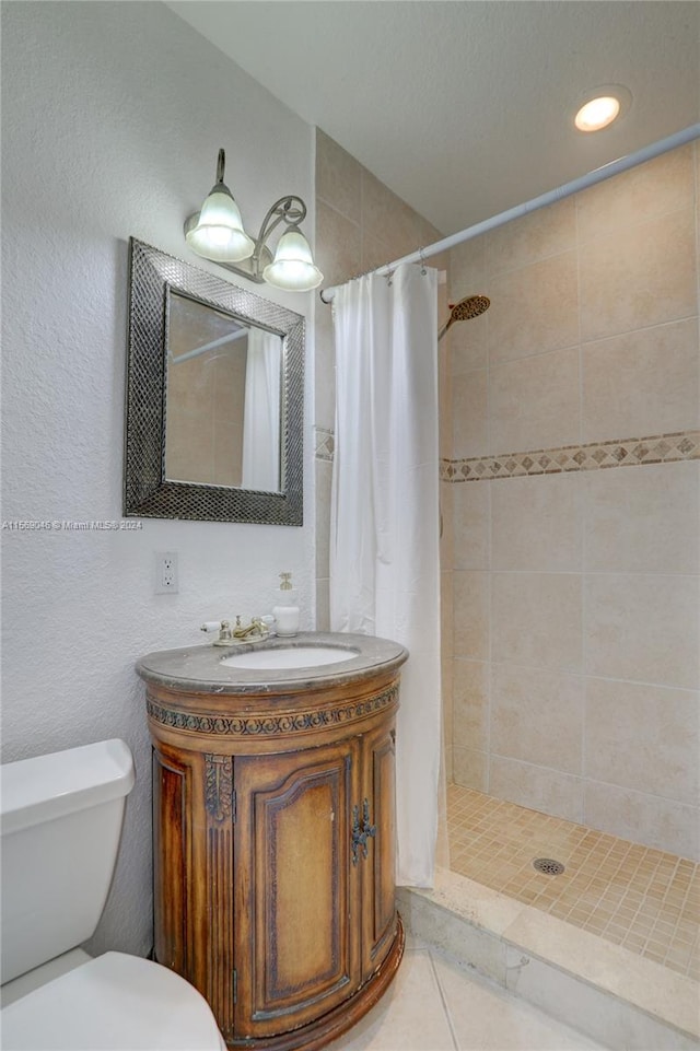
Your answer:
[[[604,1047],[700,1049],[692,979],[445,869],[397,897],[408,932]]]

